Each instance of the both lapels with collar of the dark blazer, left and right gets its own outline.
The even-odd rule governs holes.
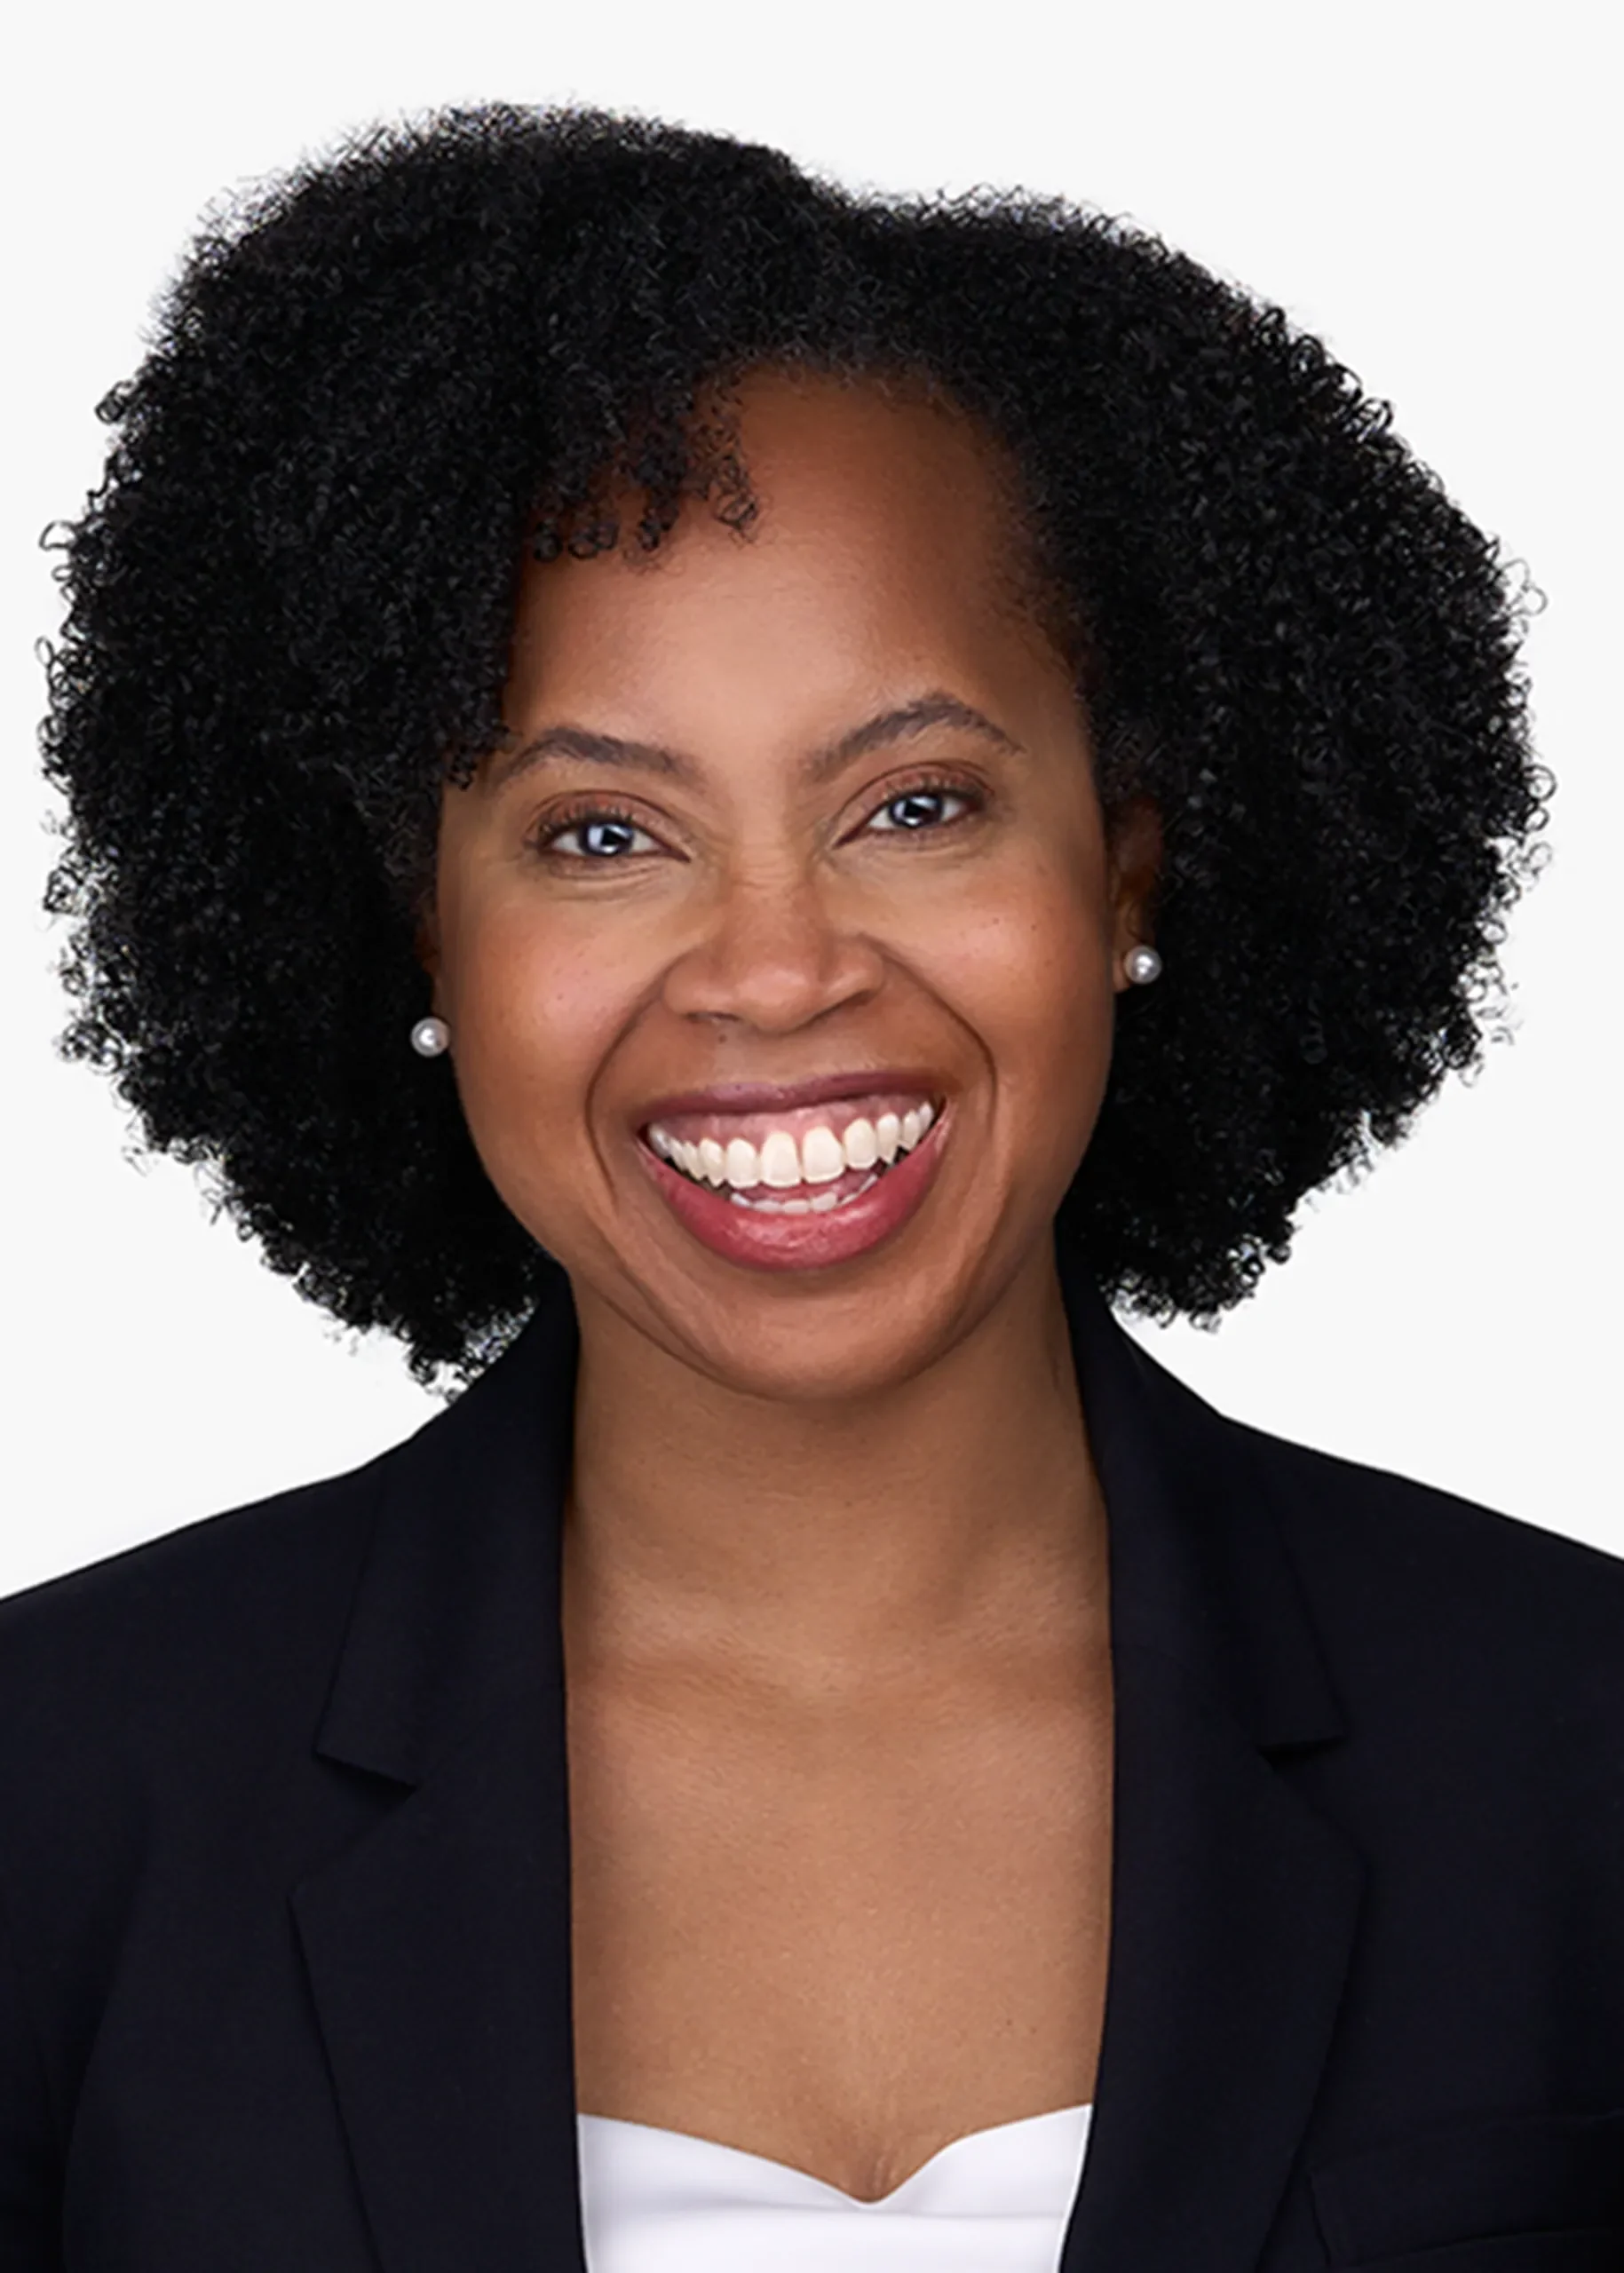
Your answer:
[[[1267,1459],[1060,1250],[1110,1521],[1105,2039],[1062,2273],[1244,2273],[1324,2064],[1358,1862],[1285,1762],[1342,1734]],[[293,1909],[384,2273],[580,2273],[560,1518],[575,1314],[380,1464],[316,1737],[403,1787]]]

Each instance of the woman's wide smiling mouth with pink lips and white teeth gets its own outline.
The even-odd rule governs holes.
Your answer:
[[[669,1114],[639,1159],[678,1221],[728,1262],[812,1271],[894,1237],[942,1159],[946,1105],[873,1093],[755,1114]]]

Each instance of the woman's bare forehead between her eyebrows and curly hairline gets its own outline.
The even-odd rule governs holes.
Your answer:
[[[509,698],[562,702],[701,671],[908,673],[1030,646],[1012,477],[999,448],[921,386],[755,373],[732,396],[755,516],[687,500],[653,552],[528,561]],[[614,500],[621,525],[635,500]]]

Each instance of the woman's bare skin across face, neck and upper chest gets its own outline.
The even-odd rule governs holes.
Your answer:
[[[1158,827],[1105,825],[967,418],[782,373],[739,416],[748,539],[689,507],[653,557],[528,564],[509,746],[446,791],[423,957],[484,1166],[580,1316],[578,2100],[869,2200],[1094,2091],[1105,1514],[1051,1225]],[[989,725],[807,777],[930,693]],[[525,764],[560,725],[689,771]],[[637,834],[537,850],[605,798]],[[701,1246],[637,1157],[651,1102],[846,1068],[948,1100],[919,1214],[826,1271]]]

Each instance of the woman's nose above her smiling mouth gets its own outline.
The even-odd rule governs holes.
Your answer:
[[[826,891],[807,873],[719,886],[703,936],[666,971],[666,1009],[787,1034],[873,996],[885,975],[880,950],[839,921]]]

